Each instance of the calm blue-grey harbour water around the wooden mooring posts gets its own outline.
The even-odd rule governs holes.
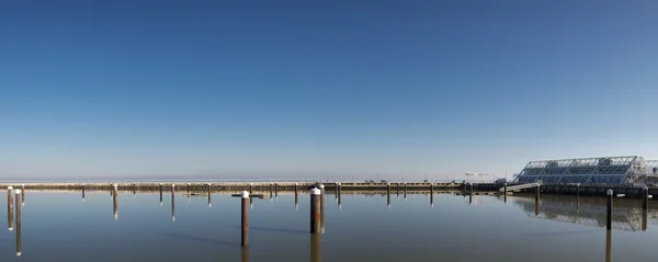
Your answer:
[[[22,255],[16,230],[0,232],[0,261],[610,261],[658,260],[658,209],[643,231],[639,201],[615,200],[606,236],[605,200],[543,195],[468,197],[427,194],[405,200],[328,193],[325,233],[309,230],[309,195],[253,200],[250,247],[240,248],[240,200],[121,193],[115,219],[109,192],[27,192],[22,206]],[[0,194],[7,224],[7,192]],[[651,202],[651,205],[657,202]],[[535,215],[536,214],[536,215]],[[172,217],[173,216],[173,217]]]

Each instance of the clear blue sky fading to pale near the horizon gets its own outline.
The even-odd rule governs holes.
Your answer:
[[[657,11],[5,1],[0,178],[460,179],[657,159]]]

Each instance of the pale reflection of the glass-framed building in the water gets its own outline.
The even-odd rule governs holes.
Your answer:
[[[606,203],[604,197],[572,197],[543,195],[541,205],[531,195],[510,196],[529,216],[555,221],[605,227]],[[647,224],[658,225],[658,209],[643,212],[639,200],[615,200],[612,210],[612,228],[624,231],[646,230]]]

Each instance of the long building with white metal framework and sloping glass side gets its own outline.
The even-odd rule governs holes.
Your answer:
[[[658,160],[639,156],[531,161],[519,173],[520,183],[587,185],[658,185]]]

